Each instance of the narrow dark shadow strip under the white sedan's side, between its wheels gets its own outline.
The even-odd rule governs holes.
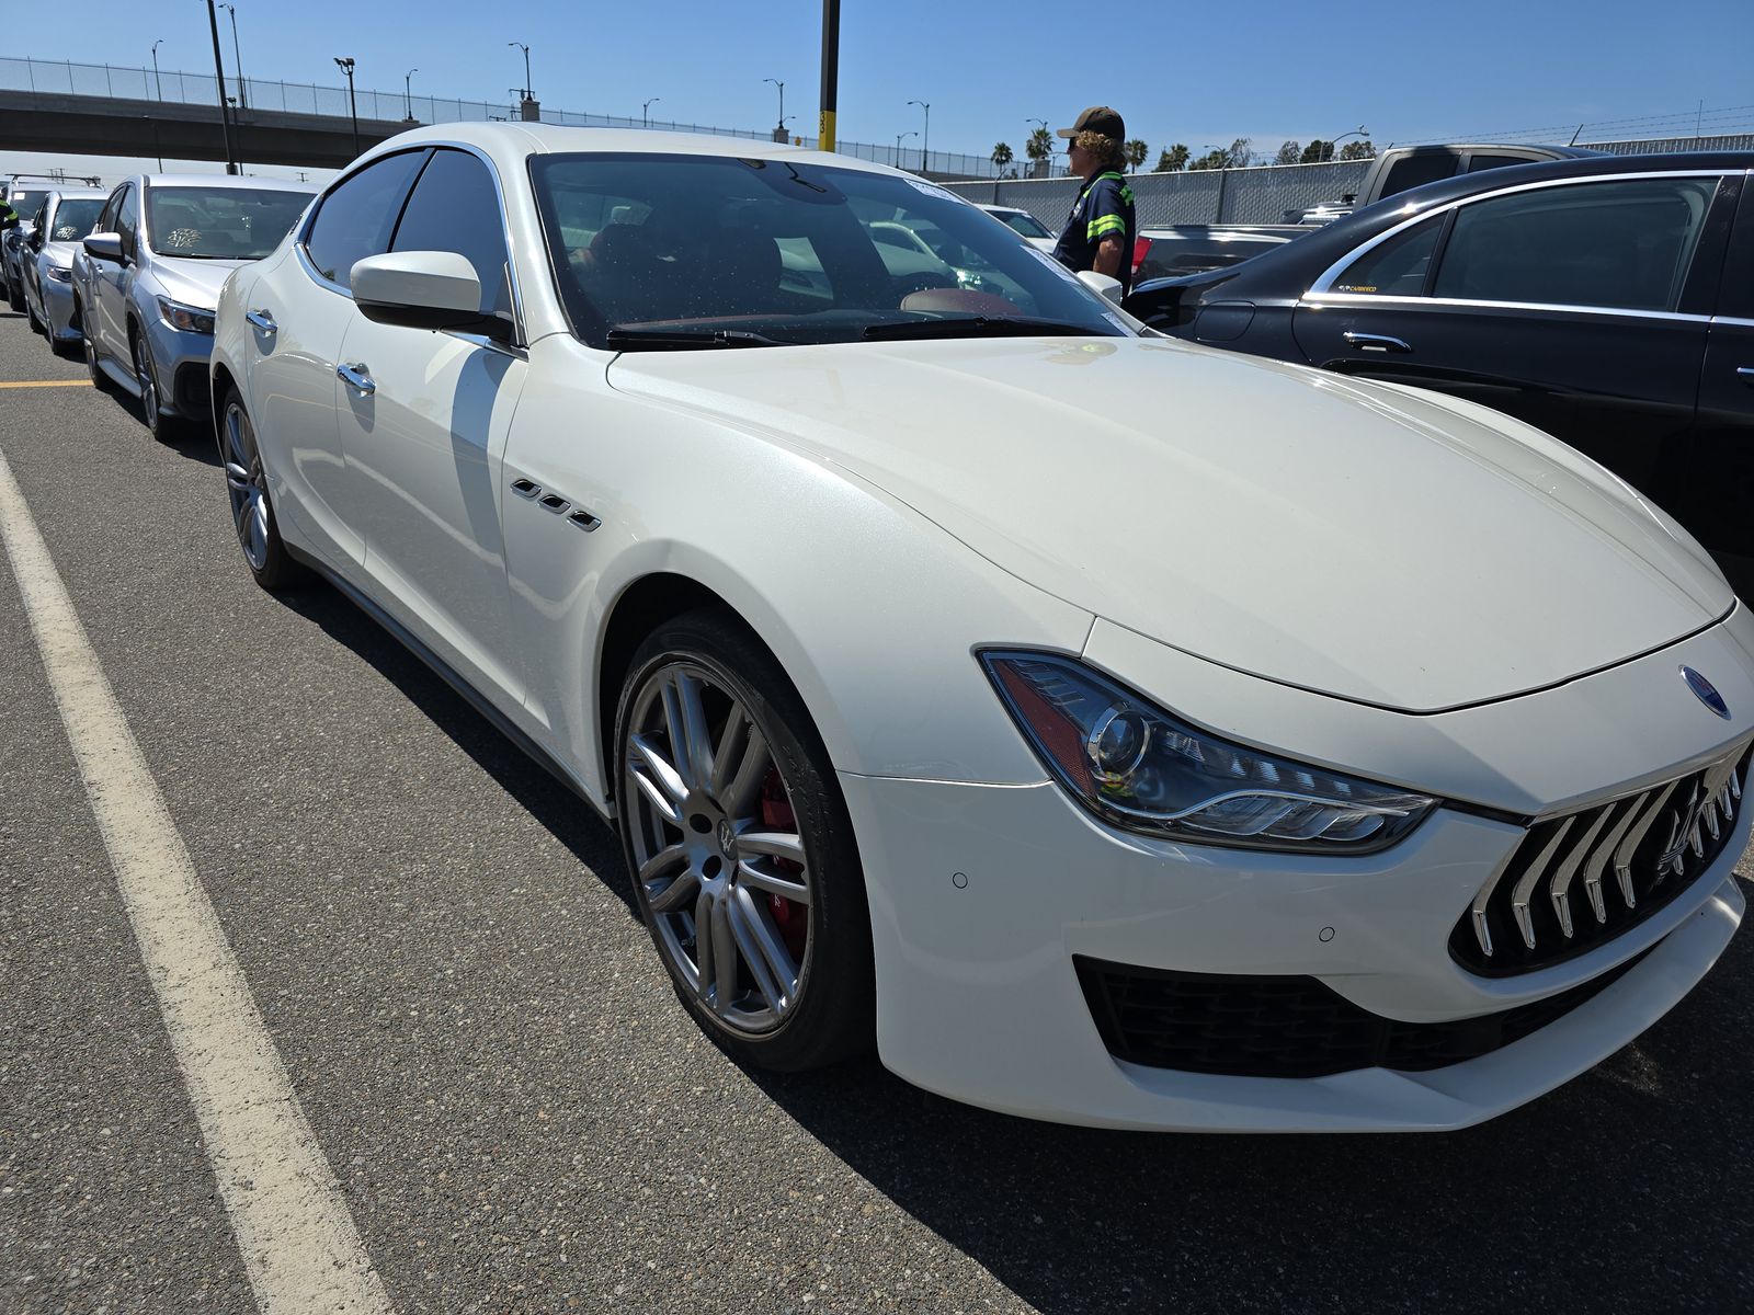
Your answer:
[[[347,645],[379,675],[407,694],[426,717],[521,803],[556,840],[591,870],[638,919],[633,884],[621,856],[621,838],[589,803],[533,763],[493,722],[340,591],[312,582],[277,600]]]

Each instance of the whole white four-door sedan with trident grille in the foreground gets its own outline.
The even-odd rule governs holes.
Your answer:
[[[895,170],[419,128],[226,282],[212,389],[258,580],[612,819],[747,1063],[1458,1127],[1742,917],[1754,621],[1673,521],[1477,405],[1142,335]]]

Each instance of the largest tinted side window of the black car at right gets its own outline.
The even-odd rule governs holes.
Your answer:
[[[1433,291],[1673,310],[1715,188],[1682,177],[1580,182],[1465,205]]]

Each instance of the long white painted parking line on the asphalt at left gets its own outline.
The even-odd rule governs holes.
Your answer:
[[[256,1304],[389,1311],[340,1187],[0,454],[0,540],[72,740]]]

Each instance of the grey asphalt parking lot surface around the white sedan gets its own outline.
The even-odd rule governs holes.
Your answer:
[[[1445,1136],[1098,1133],[873,1061],[749,1073],[670,994],[603,822],[340,594],[256,589],[210,442],[4,387],[81,379],[0,310],[0,454],[396,1310],[1749,1306],[1754,936]],[[11,572],[0,1310],[256,1310]]]

